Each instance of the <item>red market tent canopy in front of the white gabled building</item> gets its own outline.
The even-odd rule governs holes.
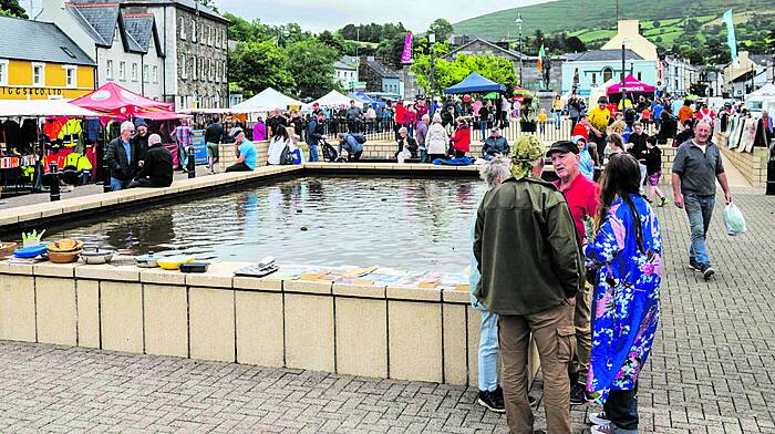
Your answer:
[[[141,96],[112,82],[71,103],[103,114],[133,117],[142,117],[148,112],[172,112],[175,108],[172,103]]]

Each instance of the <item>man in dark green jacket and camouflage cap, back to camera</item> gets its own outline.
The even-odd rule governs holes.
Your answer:
[[[474,256],[482,279],[475,292],[499,316],[506,418],[512,433],[533,433],[527,354],[535,339],[544,372],[549,433],[570,433],[568,363],[576,351],[574,303],[583,264],[561,193],[540,179],[544,146],[533,135],[512,149],[512,174],[489,190],[476,218]]]

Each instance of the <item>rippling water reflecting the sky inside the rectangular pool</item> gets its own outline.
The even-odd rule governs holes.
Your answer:
[[[52,229],[132,255],[461,271],[484,192],[477,179],[299,178]]]

